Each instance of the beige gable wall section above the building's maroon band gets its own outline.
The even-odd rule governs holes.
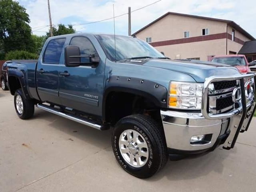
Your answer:
[[[202,29],[208,28],[209,34],[226,32],[226,23],[208,19],[193,18],[169,14],[138,32],[136,36],[142,40],[152,37],[152,42],[184,38],[189,31],[190,37],[202,36]]]

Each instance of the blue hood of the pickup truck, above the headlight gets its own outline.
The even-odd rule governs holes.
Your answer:
[[[196,82],[204,82],[210,76],[239,74],[235,67],[214,62],[149,59],[143,65],[188,74]]]

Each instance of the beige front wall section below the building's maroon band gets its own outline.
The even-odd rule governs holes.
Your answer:
[[[155,47],[172,59],[200,58],[207,61],[207,56],[226,54],[226,39],[201,41]]]

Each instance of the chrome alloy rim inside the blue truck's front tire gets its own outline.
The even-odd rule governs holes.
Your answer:
[[[135,130],[125,130],[119,138],[119,149],[124,160],[134,167],[142,167],[148,161],[148,145]]]

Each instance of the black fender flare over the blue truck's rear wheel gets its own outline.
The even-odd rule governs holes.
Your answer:
[[[8,68],[8,76],[7,76],[8,84],[9,84],[9,78],[10,77],[16,77],[19,80],[20,86],[21,86],[21,89],[22,89],[22,92],[23,92],[25,98],[30,98],[30,96],[28,94],[27,87],[26,87],[26,81],[25,81],[24,73],[21,70],[18,70],[16,68]],[[12,95],[14,95],[14,93],[11,90],[11,85],[10,84],[9,84],[9,88],[10,88],[10,93]]]

